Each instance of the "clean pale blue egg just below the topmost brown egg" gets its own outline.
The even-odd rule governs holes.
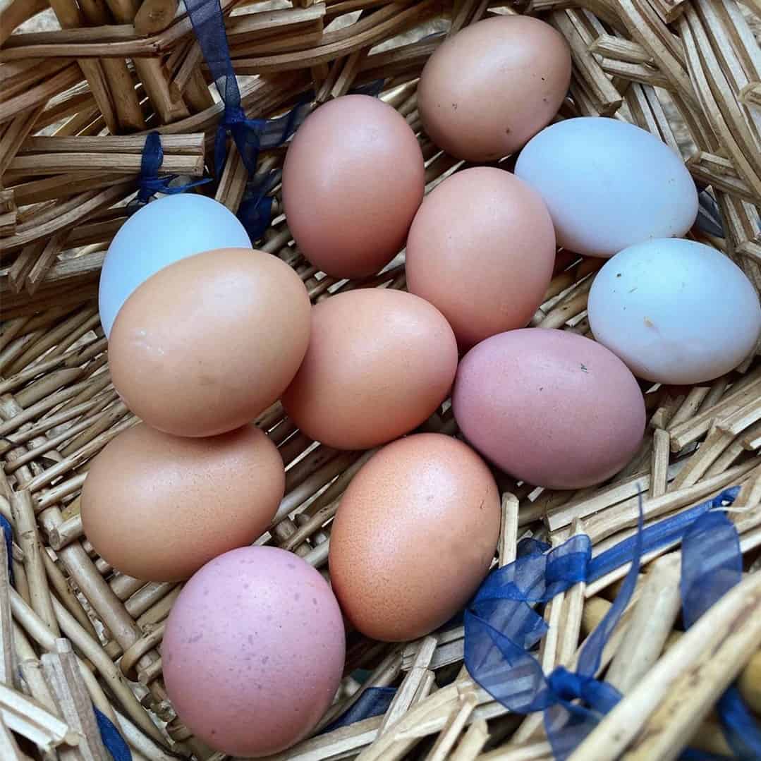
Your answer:
[[[543,197],[559,246],[586,256],[679,237],[698,213],[680,155],[616,119],[584,116],[543,129],[521,151],[515,174]]]

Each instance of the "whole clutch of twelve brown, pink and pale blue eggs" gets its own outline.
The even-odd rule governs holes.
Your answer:
[[[262,756],[313,731],[346,624],[400,642],[457,614],[495,556],[492,469],[553,489],[601,482],[642,441],[635,376],[711,380],[756,345],[743,272],[680,239],[698,199],[679,155],[616,119],[548,126],[570,75],[565,41],[533,18],[443,43],[419,82],[422,123],[480,165],[425,199],[416,135],[381,100],[339,97],[300,127],[282,180],[298,249],[357,279],[406,248],[409,292],[342,288],[311,306],[293,269],[199,195],[151,202],[116,234],[100,317],[113,384],[144,422],[94,460],[81,515],[120,572],[189,579],[163,669],[209,746]],[[517,151],[513,173],[499,166]],[[589,295],[597,341],[526,327],[558,247],[608,258]],[[464,441],[409,435],[450,396]],[[315,441],[380,447],[342,495],[330,585],[260,539],[282,517],[285,473],[252,421],[278,400]]]

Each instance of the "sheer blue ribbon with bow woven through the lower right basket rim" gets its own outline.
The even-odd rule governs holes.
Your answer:
[[[536,540],[521,541],[517,559],[489,574],[466,609],[465,664],[470,675],[511,712],[543,711],[553,754],[556,759],[567,758],[621,699],[613,686],[597,680],[595,674],[603,648],[631,600],[642,555],[682,540],[686,622],[700,616],[739,580],[742,558],[737,532],[723,513],[712,511],[731,504],[739,490],[727,489],[711,501],[647,528],[642,525],[640,508],[635,536],[594,559],[591,540],[584,534],[551,550]],[[530,653],[547,631],[534,607],[579,581],[595,581],[627,562],[632,567],[621,591],[581,648],[575,672],[557,667],[546,676]],[[718,711],[733,750],[751,753],[740,758],[761,758],[761,737],[756,739],[758,730],[736,688],[728,690]],[[692,753],[693,758],[699,757]]]

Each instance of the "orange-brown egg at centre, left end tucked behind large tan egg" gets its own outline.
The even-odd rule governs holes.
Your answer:
[[[282,396],[307,436],[368,449],[425,422],[457,371],[457,341],[436,307],[387,288],[346,291],[312,309],[307,355]]]

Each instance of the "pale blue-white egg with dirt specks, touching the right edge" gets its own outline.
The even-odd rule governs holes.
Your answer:
[[[761,332],[759,295],[724,254],[648,240],[605,263],[589,293],[594,337],[645,380],[695,384],[737,367]]]

